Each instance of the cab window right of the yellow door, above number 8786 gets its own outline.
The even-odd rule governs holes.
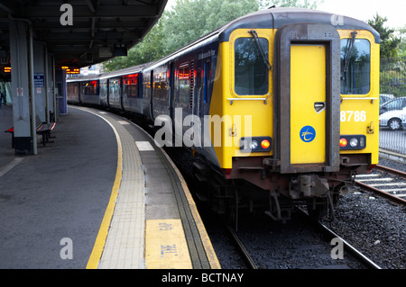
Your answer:
[[[365,39],[352,41],[341,40],[341,94],[368,94],[371,86],[371,44]]]

